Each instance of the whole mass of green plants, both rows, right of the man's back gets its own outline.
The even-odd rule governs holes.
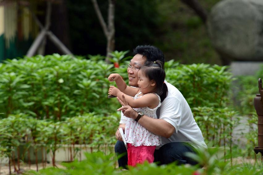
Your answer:
[[[233,126],[240,119],[237,112],[227,107],[233,80],[227,66],[180,65],[171,60],[165,67],[166,80],[184,95],[206,142],[231,145]]]

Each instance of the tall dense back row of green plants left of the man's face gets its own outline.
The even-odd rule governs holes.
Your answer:
[[[69,55],[6,60],[0,65],[0,111],[54,120],[111,113],[117,102],[107,99],[107,77],[113,70],[104,61]]]

